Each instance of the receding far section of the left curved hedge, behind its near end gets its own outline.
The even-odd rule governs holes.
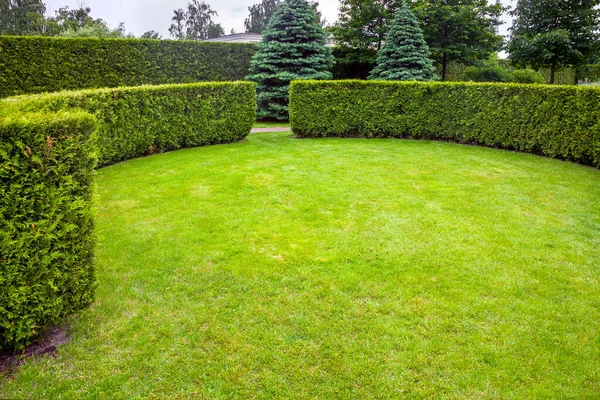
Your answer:
[[[255,120],[256,85],[189,83],[29,95],[21,110],[83,109],[98,121],[99,165],[144,154],[244,139]]]

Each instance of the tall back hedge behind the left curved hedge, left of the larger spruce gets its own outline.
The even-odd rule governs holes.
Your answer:
[[[0,36],[0,97],[242,80],[253,44]]]

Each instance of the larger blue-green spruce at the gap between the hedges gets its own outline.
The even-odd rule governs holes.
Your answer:
[[[287,120],[296,79],[331,79],[331,49],[306,0],[286,0],[269,21],[246,79],[258,83],[258,118]]]

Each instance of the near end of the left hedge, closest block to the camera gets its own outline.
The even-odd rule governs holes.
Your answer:
[[[0,349],[93,301],[94,126],[81,111],[0,116]]]

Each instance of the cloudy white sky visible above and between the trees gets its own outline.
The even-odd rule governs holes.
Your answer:
[[[492,0],[490,0],[492,1]],[[127,32],[140,36],[146,31],[155,30],[169,37],[169,26],[173,10],[185,9],[188,0],[45,0],[50,15],[61,7],[77,8],[80,4],[92,9],[94,18],[102,18],[111,27],[117,27],[119,22],[125,22]],[[259,0],[205,0],[219,14],[217,20],[223,25],[225,32],[231,29],[236,32],[244,31],[244,19],[248,15],[248,7]],[[511,0],[502,0],[510,5]],[[329,23],[337,19],[339,1],[320,0],[319,8]],[[507,20],[507,18],[505,18]],[[501,34],[506,34],[505,25]]]

